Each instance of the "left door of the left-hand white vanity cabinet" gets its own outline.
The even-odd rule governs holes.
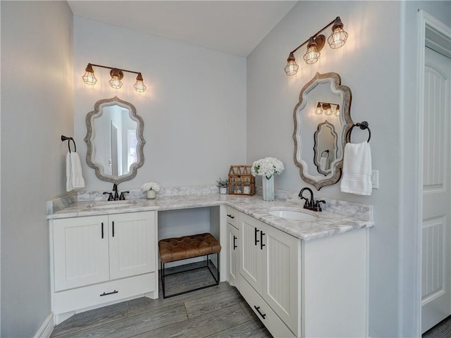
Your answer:
[[[107,216],[54,220],[54,269],[56,292],[109,280]]]

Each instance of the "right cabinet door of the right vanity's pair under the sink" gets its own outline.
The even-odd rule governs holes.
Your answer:
[[[298,333],[299,239],[265,225],[264,241],[264,283],[261,295],[285,324]]]

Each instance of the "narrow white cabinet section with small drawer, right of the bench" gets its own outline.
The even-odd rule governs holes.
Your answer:
[[[239,211],[227,207],[227,281],[240,289],[240,231]]]

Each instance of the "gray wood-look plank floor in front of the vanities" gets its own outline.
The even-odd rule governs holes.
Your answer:
[[[214,280],[206,269],[168,276],[166,294],[211,282]],[[143,297],[78,313],[57,325],[51,337],[250,338],[271,334],[237,289],[221,282],[167,299],[163,299],[160,286],[159,299]]]

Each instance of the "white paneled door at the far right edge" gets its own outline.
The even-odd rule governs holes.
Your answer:
[[[451,315],[451,59],[426,48],[421,331]]]

